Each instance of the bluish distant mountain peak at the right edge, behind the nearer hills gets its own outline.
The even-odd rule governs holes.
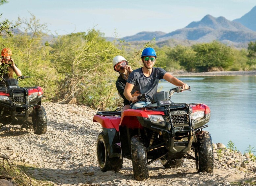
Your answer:
[[[252,10],[246,14],[244,14],[241,18],[233,20],[233,22],[239,22],[242,25],[248,27],[251,30],[256,31],[256,6],[252,8]]]

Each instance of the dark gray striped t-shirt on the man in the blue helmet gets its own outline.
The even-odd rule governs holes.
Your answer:
[[[153,95],[157,92],[157,86],[160,79],[163,79],[166,71],[159,67],[153,67],[152,73],[149,77],[146,77],[142,72],[142,67],[136,70],[133,70],[127,82],[134,85],[134,91],[139,91],[139,93],[147,93],[149,96],[153,97]]]

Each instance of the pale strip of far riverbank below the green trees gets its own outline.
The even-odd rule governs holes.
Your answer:
[[[187,72],[183,70],[168,72],[174,76],[256,76],[256,70],[250,71],[213,71],[213,72]]]

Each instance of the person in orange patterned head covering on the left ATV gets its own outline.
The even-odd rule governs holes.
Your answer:
[[[22,73],[20,69],[15,65],[12,59],[12,51],[10,48],[4,48],[1,52],[1,62],[0,62],[0,87],[6,86],[6,80],[13,78],[13,72],[17,76],[21,76]]]

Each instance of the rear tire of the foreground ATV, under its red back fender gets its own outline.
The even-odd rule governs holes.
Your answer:
[[[118,172],[122,169],[123,158],[114,157],[109,158],[107,147],[104,139],[104,134],[101,132],[97,140],[97,158],[100,170],[102,172],[115,171]]]

